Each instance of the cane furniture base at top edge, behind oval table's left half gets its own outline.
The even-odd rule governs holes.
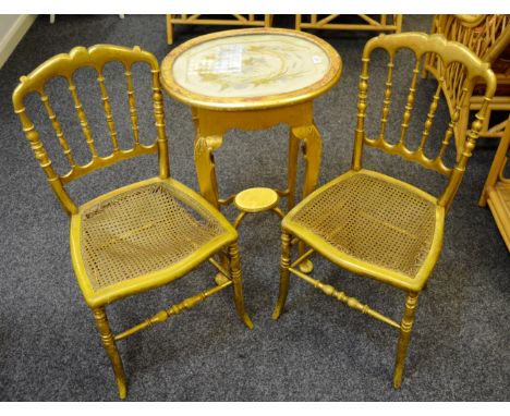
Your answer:
[[[260,14],[232,14],[233,19],[207,19],[202,17],[202,14],[167,14],[167,44],[172,45],[174,40],[174,25],[210,25],[210,26],[247,26],[247,27],[271,27],[272,14],[264,14],[264,19],[259,19]],[[247,17],[245,17],[247,16]]]

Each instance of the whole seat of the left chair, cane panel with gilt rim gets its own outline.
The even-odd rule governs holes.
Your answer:
[[[183,264],[189,270],[234,241],[233,228],[197,199],[177,181],[149,180],[82,206],[71,244],[87,303],[123,297],[143,281],[165,284],[182,274]]]

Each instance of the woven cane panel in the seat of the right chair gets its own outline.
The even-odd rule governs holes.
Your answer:
[[[341,252],[414,277],[428,254],[436,205],[357,173],[318,194],[293,221]]]

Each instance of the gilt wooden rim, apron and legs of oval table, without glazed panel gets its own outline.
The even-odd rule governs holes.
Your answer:
[[[192,48],[224,39],[231,41],[235,36],[251,35],[280,36],[286,39],[296,38],[300,41],[312,42],[314,47],[326,53],[329,59],[329,68],[323,77],[312,85],[298,90],[281,94],[277,91],[260,97],[209,96],[179,84],[178,77],[173,73],[174,64]],[[270,129],[280,123],[286,123],[290,127],[288,187],[287,189],[272,191],[279,196],[288,197],[289,209],[294,206],[298,154],[300,144],[302,144],[305,162],[303,197],[309,194],[317,184],[321,152],[321,138],[313,117],[313,99],[326,93],[338,82],[341,69],[342,63],[339,54],[324,40],[309,34],[280,28],[226,30],[194,38],[173,49],[162,61],[161,85],[171,97],[192,108],[192,117],[196,127],[194,159],[202,195],[217,208],[235,199],[235,195],[220,197],[216,178],[214,154],[222,146],[223,135],[228,131],[232,129],[258,131]],[[281,216],[281,211],[274,211]],[[243,218],[244,213],[241,212],[234,224],[239,225]]]

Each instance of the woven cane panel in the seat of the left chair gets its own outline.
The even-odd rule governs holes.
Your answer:
[[[223,232],[169,184],[150,184],[82,213],[82,258],[97,291],[165,269]]]

